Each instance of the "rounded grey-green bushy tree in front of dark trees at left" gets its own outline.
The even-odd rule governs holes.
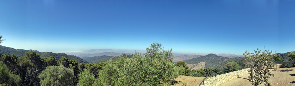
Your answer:
[[[41,80],[41,86],[72,86],[74,71],[71,68],[65,68],[63,65],[47,66],[38,75],[38,78]]]

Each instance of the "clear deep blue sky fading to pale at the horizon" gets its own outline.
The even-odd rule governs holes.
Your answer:
[[[294,0],[1,0],[1,44],[38,51],[295,51]]]

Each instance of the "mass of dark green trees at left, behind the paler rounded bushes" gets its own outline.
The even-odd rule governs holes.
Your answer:
[[[79,80],[78,78],[79,74],[83,72],[84,69],[88,69],[91,74],[95,75],[95,78],[98,78],[100,70],[106,64],[106,63],[83,64],[75,60],[69,60],[67,57],[63,57],[57,61],[56,58],[53,56],[40,57],[40,55],[37,54],[35,51],[26,52],[26,56],[22,56],[19,58],[16,55],[0,55],[0,61],[6,66],[4,67],[5,69],[3,69],[3,72],[5,72],[5,75],[8,75],[8,78],[6,77],[5,79],[6,81],[3,83],[7,85],[24,85],[24,86],[41,85],[41,83],[43,83],[43,85],[54,85],[54,83],[52,83],[53,81],[47,80],[42,77],[38,78],[37,76],[40,75],[40,72],[44,72],[45,68],[48,69],[48,67],[51,67],[51,69],[46,70],[48,75],[49,74],[48,71],[53,71],[54,69],[58,69],[58,68],[52,68],[52,66],[60,67],[60,65],[63,65],[66,69],[71,69],[73,71],[73,77],[71,79],[67,79],[67,80],[70,80],[67,82],[71,82],[71,84],[69,85],[76,85]],[[57,71],[54,71],[54,74],[56,74],[55,72]],[[50,78],[52,79],[52,77]],[[54,78],[60,78],[60,77],[54,77]],[[7,80],[9,80],[9,82],[7,82]],[[14,81],[12,82],[12,80]],[[48,83],[51,83],[51,84],[48,84]],[[55,85],[58,85],[57,83],[58,82],[56,82]]]

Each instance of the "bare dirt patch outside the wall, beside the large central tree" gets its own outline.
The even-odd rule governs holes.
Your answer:
[[[176,81],[178,81],[178,83],[172,86],[199,86],[199,84],[204,78],[205,77],[189,77],[189,76],[181,75],[175,79]],[[205,80],[207,79],[209,79],[209,77],[206,78]]]

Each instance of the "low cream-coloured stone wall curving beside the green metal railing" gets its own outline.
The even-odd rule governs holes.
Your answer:
[[[216,77],[211,77],[211,78],[207,79],[206,81],[204,81],[204,85],[201,85],[201,86],[220,85],[221,83],[224,83],[229,80],[235,79],[235,78],[243,76],[245,74],[248,74],[248,70],[250,70],[250,68],[242,69],[239,71],[234,71],[234,72],[230,72],[230,73],[226,73],[226,74],[217,75]]]

